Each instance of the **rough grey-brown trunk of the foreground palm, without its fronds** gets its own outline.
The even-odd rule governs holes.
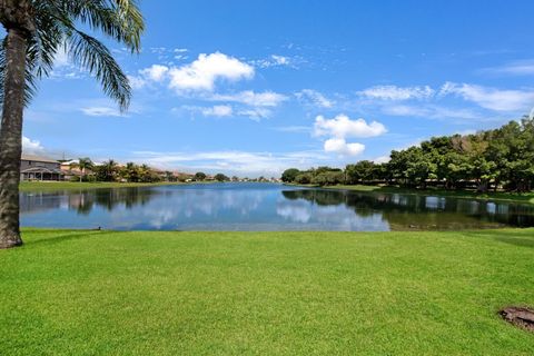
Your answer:
[[[28,41],[18,29],[8,30],[2,123],[0,127],[0,248],[22,245],[19,226],[20,157]]]

